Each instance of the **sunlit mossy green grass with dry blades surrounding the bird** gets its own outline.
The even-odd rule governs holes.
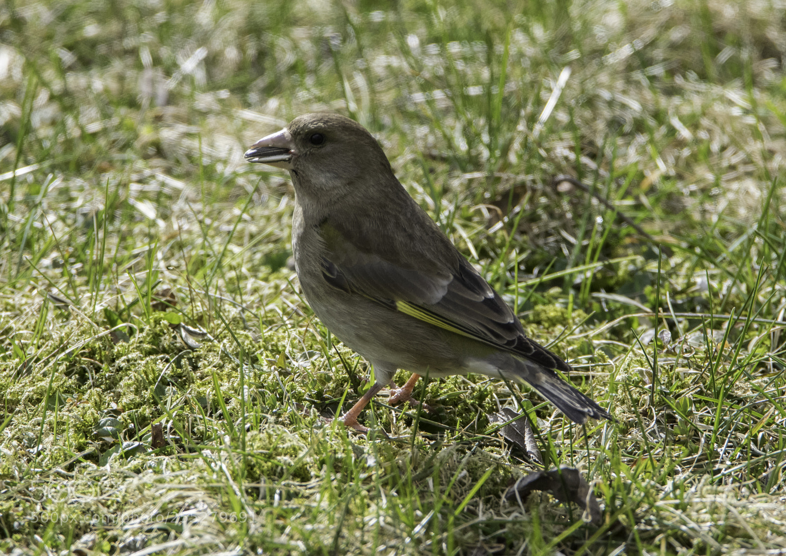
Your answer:
[[[2,550],[786,549],[784,17],[725,0],[0,5]],[[368,437],[325,419],[369,369],[288,268],[288,177],[242,158],[319,110],[375,134],[618,422],[582,430],[483,376],[424,384],[435,414],[379,397]],[[503,502],[535,469],[490,422],[503,407],[549,465],[582,470],[600,527],[545,493]]]

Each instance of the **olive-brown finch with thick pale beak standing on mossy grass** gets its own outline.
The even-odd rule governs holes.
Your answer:
[[[342,418],[390,386],[410,400],[422,375],[479,373],[525,382],[571,421],[613,421],[556,371],[571,366],[524,333],[501,295],[395,177],[382,147],[353,119],[299,115],[244,153],[288,170],[295,188],[292,255],[316,316],[374,370],[374,384]],[[398,369],[413,373],[400,389]]]

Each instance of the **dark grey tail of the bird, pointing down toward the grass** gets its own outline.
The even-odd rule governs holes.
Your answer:
[[[508,368],[513,372],[509,371],[505,374],[512,374],[514,376],[511,378],[527,382],[542,397],[556,405],[571,421],[582,424],[586,422],[588,417],[614,420],[604,408],[560,379],[560,376],[552,369],[545,368],[541,364],[523,357],[511,357],[511,359],[515,361],[515,364],[512,365],[512,369]]]

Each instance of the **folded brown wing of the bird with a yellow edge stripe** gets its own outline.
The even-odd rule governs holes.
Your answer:
[[[517,353],[545,368],[570,371],[563,360],[527,338],[500,295],[441,233],[430,234],[430,240],[440,243],[433,250],[421,249],[422,241],[406,237],[378,237],[382,247],[372,253],[364,245],[369,243],[364,236],[347,234],[342,228],[327,221],[321,225],[325,240],[322,275],[333,287]],[[406,256],[402,249],[408,249]]]

